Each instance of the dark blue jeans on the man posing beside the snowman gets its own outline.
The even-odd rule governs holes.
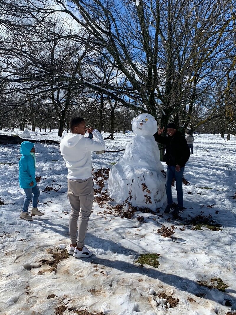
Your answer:
[[[172,193],[171,193],[171,183],[173,178],[176,181],[176,191],[177,191],[177,200],[178,200],[178,206],[183,207],[183,171],[184,167],[180,168],[180,171],[177,172],[175,170],[175,166],[167,166],[166,170],[166,196],[167,196],[167,203],[172,204]]]

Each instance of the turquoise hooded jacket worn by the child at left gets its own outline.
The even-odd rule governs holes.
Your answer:
[[[33,156],[30,154],[34,143],[30,141],[23,141],[20,145],[20,153],[22,157],[19,161],[19,184],[20,188],[32,188],[37,185],[35,180],[35,162]],[[33,186],[30,186],[31,182]]]

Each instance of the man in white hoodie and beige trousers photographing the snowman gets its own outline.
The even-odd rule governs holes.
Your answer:
[[[71,133],[65,135],[60,143],[61,155],[68,168],[68,199],[71,205],[68,253],[76,258],[81,258],[93,254],[84,246],[93,206],[91,151],[104,150],[105,142],[97,129],[86,128],[85,121],[81,117],[72,118],[69,126]],[[95,140],[84,137],[86,131],[92,133]],[[77,226],[78,236],[76,238]]]

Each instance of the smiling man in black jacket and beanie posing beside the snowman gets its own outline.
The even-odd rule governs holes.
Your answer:
[[[177,216],[183,211],[183,172],[184,166],[190,156],[190,151],[185,137],[180,131],[177,131],[177,127],[174,123],[169,123],[166,128],[167,137],[161,136],[164,127],[162,129],[159,128],[154,137],[158,143],[166,145],[165,161],[167,164],[167,171],[165,187],[167,206],[164,213],[173,211],[173,216]],[[176,181],[177,207],[173,205],[172,200],[171,183],[173,179]]]

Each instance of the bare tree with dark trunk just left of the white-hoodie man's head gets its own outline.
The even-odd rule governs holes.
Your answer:
[[[32,4],[32,2],[26,2]],[[15,7],[11,3],[11,9]],[[28,11],[27,11],[28,9]],[[50,98],[59,122],[61,136],[70,102],[81,90],[77,82],[81,61],[87,54],[88,44],[82,45],[70,39],[70,29],[61,23],[55,13],[48,17],[37,16],[35,7],[23,7],[33,17],[33,25],[23,24],[22,30],[6,24],[10,33],[5,36],[2,47],[2,82],[10,84],[9,92],[21,95],[31,94],[31,99]],[[14,18],[19,23],[17,11]],[[27,21],[26,21],[27,22]],[[11,26],[11,27],[10,27]],[[19,36],[16,38],[16,33]]]

